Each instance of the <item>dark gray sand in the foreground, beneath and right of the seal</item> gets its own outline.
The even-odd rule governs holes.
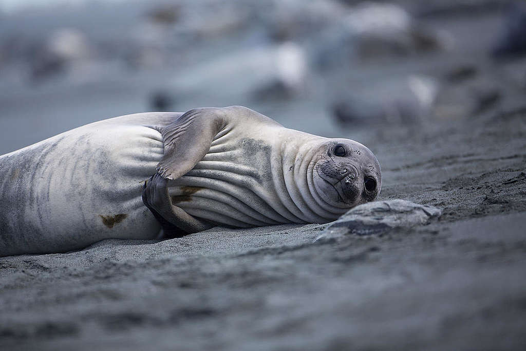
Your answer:
[[[523,121],[436,127],[413,134],[410,145],[378,137],[381,198],[443,208],[428,226],[324,243],[313,243],[324,225],[214,228],[162,242],[106,240],[79,252],[2,258],[1,343],[521,349]]]

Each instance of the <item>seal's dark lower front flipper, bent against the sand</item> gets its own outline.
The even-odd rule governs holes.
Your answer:
[[[143,203],[160,223],[165,237],[182,237],[213,227],[174,206],[168,194],[167,183],[165,178],[156,173],[143,187]]]

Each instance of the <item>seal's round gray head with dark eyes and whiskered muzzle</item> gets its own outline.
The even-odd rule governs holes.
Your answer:
[[[382,174],[375,155],[350,139],[330,139],[313,162],[313,184],[328,204],[351,208],[375,200]]]

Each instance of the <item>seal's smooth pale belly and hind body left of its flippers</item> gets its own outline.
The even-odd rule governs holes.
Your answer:
[[[155,237],[141,182],[162,155],[154,129],[99,123],[0,156],[0,256]]]

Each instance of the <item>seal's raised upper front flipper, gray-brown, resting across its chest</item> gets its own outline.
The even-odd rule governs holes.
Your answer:
[[[160,130],[164,155],[157,165],[164,178],[177,179],[205,157],[217,133],[224,127],[224,109],[195,108]]]

